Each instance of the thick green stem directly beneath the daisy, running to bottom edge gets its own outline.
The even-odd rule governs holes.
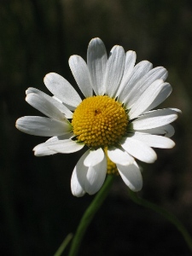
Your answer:
[[[68,254],[69,256],[76,256],[78,254],[79,246],[81,241],[83,240],[84,233],[87,230],[92,218],[102,206],[102,202],[106,199],[108,192],[111,189],[114,177],[114,175],[108,175],[105,183],[102,185],[102,189],[100,189],[94,200],[91,202],[90,206],[84,212],[84,215],[80,220],[78,229],[73,236],[72,245]]]

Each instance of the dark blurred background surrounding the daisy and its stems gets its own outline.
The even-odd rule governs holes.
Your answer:
[[[86,58],[91,38],[114,44],[169,71],[172,95],[162,108],[180,108],[173,149],[155,149],[143,166],[140,195],[166,207],[192,234],[192,3],[181,0],[1,0],[0,2],[0,254],[53,255],[74,232],[93,196],[75,198],[70,178],[81,152],[43,158],[32,153],[46,138],[15,129],[24,115],[41,115],[25,102],[32,86],[60,73],[74,87],[68,58]],[[172,224],[135,205],[117,177],[84,237],[79,255],[190,255]],[[67,253],[64,253],[67,255]]]

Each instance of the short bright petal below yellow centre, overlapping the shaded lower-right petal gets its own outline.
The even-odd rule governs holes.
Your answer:
[[[123,148],[119,149],[115,147],[108,147],[108,157],[113,161],[113,163],[119,164],[121,166],[127,166],[134,162],[134,158],[125,152]]]

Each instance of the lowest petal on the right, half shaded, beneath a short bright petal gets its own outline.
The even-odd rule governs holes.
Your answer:
[[[142,189],[143,177],[136,161],[128,166],[117,165],[117,168],[123,181],[132,191],[137,192]]]

